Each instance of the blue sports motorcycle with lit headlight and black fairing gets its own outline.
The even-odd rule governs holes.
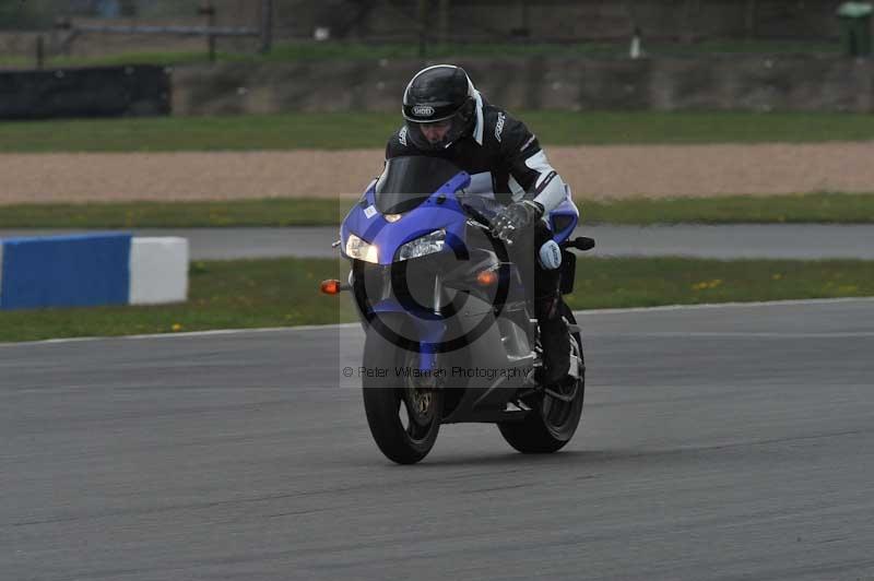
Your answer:
[[[541,386],[531,293],[509,242],[491,234],[501,205],[470,186],[469,174],[441,158],[389,159],[341,225],[335,246],[351,261],[349,284],[322,283],[324,293],[352,293],[366,336],[367,423],[400,464],[425,458],[441,425],[463,422],[497,424],[520,452],[555,452],[582,415],[586,365],[574,313],[562,300],[571,380]],[[594,240],[569,239],[579,218],[569,195],[546,218],[560,249],[562,294],[569,294],[569,250]]]

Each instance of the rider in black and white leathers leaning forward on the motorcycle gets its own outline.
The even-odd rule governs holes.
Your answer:
[[[542,245],[551,239],[543,216],[569,199],[564,181],[538,138],[491,105],[459,67],[437,64],[418,71],[406,85],[402,111],[405,123],[389,139],[386,158],[428,155],[451,161],[471,175],[471,191],[479,187],[505,204],[493,234],[517,242],[511,251],[533,251],[521,257],[521,266],[530,272],[534,265],[534,310],[544,358],[541,381],[564,381],[570,341],[558,308],[559,271],[555,263],[539,260]]]

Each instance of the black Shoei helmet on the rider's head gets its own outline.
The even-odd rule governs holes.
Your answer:
[[[403,118],[408,139],[420,150],[445,150],[473,127],[474,88],[468,73],[452,64],[422,69],[403,93]],[[446,126],[441,139],[429,141],[423,133],[434,123]]]

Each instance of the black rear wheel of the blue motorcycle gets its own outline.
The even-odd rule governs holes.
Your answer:
[[[562,315],[576,324],[574,312],[562,303]],[[580,358],[580,377],[569,392],[570,402],[563,402],[546,393],[539,394],[531,412],[521,422],[499,422],[498,429],[512,448],[525,454],[546,454],[557,452],[574,437],[582,417],[582,403],[586,394],[586,366],[582,353],[582,339],[579,333],[570,334],[570,346]]]

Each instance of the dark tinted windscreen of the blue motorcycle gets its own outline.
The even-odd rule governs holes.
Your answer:
[[[376,182],[376,209],[383,214],[409,212],[461,171],[439,157],[393,157]]]

